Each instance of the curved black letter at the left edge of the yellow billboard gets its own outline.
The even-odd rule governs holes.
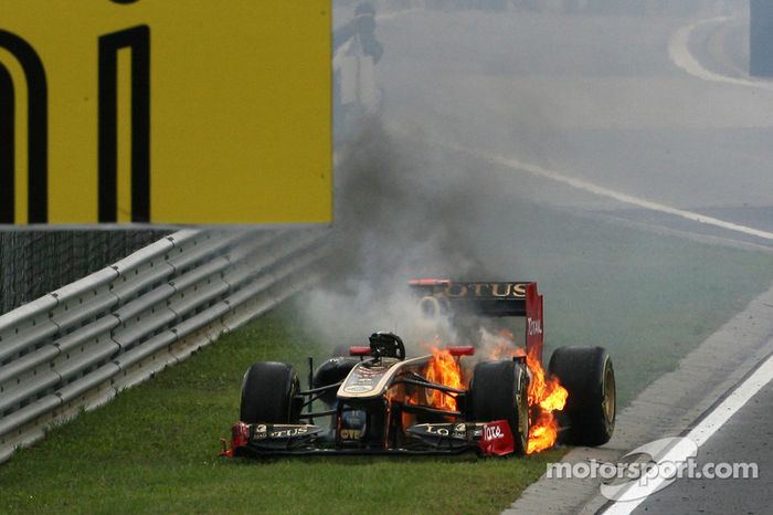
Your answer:
[[[35,50],[18,35],[0,30],[0,48],[24,71],[28,92],[29,223],[49,220],[49,86]],[[15,90],[11,73],[0,63],[0,223],[14,221]]]

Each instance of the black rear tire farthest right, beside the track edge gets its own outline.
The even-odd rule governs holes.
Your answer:
[[[612,358],[603,347],[561,347],[548,366],[569,391],[559,416],[568,429],[561,441],[574,445],[603,445],[615,430],[616,388]]]

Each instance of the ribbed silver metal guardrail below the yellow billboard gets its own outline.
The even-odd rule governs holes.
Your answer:
[[[320,230],[183,230],[0,316],[0,462],[314,281]]]

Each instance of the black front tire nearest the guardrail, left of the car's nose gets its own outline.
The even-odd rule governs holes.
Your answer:
[[[244,423],[297,423],[298,375],[292,365],[256,362],[244,374],[240,420]]]

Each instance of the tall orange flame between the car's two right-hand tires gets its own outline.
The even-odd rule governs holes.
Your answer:
[[[537,349],[526,354],[522,348],[516,347],[516,339],[509,330],[501,330],[494,347],[489,353],[490,359],[526,355],[526,365],[531,371],[529,383],[529,444],[527,454],[550,449],[558,440],[559,424],[554,411],[561,411],[566,406],[569,392],[561,386],[558,378],[546,377],[542,362],[537,355]]]

